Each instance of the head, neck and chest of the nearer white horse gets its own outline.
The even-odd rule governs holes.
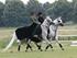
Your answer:
[[[53,23],[52,19],[50,16],[46,16],[45,21],[43,22],[43,24],[41,25],[42,27],[42,38],[47,43],[51,44],[47,40],[47,31],[50,28],[50,24]]]

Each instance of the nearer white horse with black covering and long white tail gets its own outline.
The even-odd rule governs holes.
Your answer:
[[[47,39],[47,31],[50,28],[50,24],[52,23],[52,19],[50,16],[46,16],[46,19],[44,20],[44,22],[41,24],[41,30],[42,30],[42,39],[41,39],[41,44],[42,44],[42,40],[45,40],[47,44],[51,44],[51,42]],[[14,34],[13,34],[13,37],[12,39],[10,40],[9,45],[3,49],[3,51],[8,50],[14,40],[18,40],[18,44],[19,44],[19,48],[18,50],[20,50],[20,47],[21,47],[21,42],[24,39],[28,44],[26,46],[26,49],[31,48],[32,47],[30,46],[31,44],[31,40],[34,42],[34,43],[37,43],[38,38],[35,40],[33,38],[34,35],[33,32],[34,32],[34,28],[35,28],[36,24],[33,24],[32,26],[30,27],[20,27],[20,28],[16,28]],[[37,34],[35,34],[37,35]],[[33,39],[32,39],[33,38]],[[38,46],[38,49],[41,49],[41,47]]]

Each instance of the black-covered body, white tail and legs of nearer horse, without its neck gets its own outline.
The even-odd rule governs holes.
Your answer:
[[[19,27],[15,30],[15,33],[13,34],[13,37],[12,37],[11,42],[9,43],[9,45],[3,50],[8,50],[12,46],[13,42],[15,39],[18,39],[18,43],[19,43],[18,50],[19,51],[21,48],[22,40],[24,40],[26,43],[26,50],[29,48],[32,50],[30,43],[34,42],[35,45],[37,46],[37,48],[42,51],[41,45],[37,45],[37,43],[43,40],[41,34],[42,34],[41,25],[38,25],[36,23],[33,23],[31,26]],[[34,35],[37,35],[37,37]]]

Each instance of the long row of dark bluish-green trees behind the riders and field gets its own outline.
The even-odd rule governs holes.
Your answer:
[[[30,0],[24,4],[21,0],[6,0],[6,4],[0,2],[0,26],[22,26],[31,24],[30,13],[43,12],[52,19],[63,16],[64,22],[77,23],[77,1],[68,2],[58,0],[54,3],[40,3],[37,0]]]

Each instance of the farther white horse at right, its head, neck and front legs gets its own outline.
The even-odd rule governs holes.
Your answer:
[[[52,44],[53,40],[56,40],[56,43],[59,45],[59,47],[62,48],[62,50],[64,50],[62,44],[58,43],[58,36],[57,36],[57,28],[58,28],[58,26],[64,26],[64,23],[63,23],[63,21],[62,21],[62,18],[58,16],[57,19],[55,19],[55,20],[53,21],[53,23],[54,23],[54,24],[51,24],[51,26],[50,26],[48,40],[51,42],[51,44]],[[47,49],[50,46],[51,46],[51,45],[48,45],[48,46],[46,47],[46,49]],[[53,48],[53,47],[52,47],[52,48]]]

